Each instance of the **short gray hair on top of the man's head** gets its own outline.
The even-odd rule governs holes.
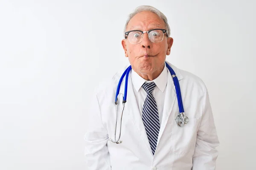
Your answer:
[[[142,12],[142,11],[150,11],[154,14],[157,14],[158,17],[160,17],[163,22],[165,23],[165,27],[166,27],[166,30],[167,30],[167,34],[168,36],[170,36],[170,33],[171,33],[171,30],[170,30],[170,26],[167,22],[167,18],[166,16],[161,12],[159,11],[157,8],[154,8],[153,6],[138,6],[134,12],[132,12],[131,14],[128,15],[128,19],[125,23],[125,29],[124,29],[124,34],[125,34],[125,30],[127,29],[127,25],[129,23],[129,21],[131,20],[132,17],[134,17],[134,15]]]

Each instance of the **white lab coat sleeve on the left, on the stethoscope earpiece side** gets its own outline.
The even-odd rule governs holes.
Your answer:
[[[95,95],[89,109],[85,139],[85,162],[88,170],[111,170],[108,152],[108,132],[103,126],[98,98]]]

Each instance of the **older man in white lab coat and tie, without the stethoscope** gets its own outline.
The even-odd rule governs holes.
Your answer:
[[[166,17],[140,6],[125,25],[122,47],[131,64],[121,137],[115,133],[115,95],[122,71],[96,88],[85,134],[85,156],[92,170],[214,170],[218,137],[207,88],[193,74],[167,62],[175,71],[189,122],[176,123],[180,113],[175,83],[166,68],[173,39]],[[120,93],[124,93],[124,81]],[[122,98],[118,106],[116,139]],[[122,141],[122,142],[121,142]]]

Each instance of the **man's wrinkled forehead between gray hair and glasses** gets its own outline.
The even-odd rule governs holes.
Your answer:
[[[165,28],[163,20],[150,11],[140,12],[131,18],[127,25],[127,30],[133,29],[154,29],[154,28]],[[145,31],[145,30],[144,30]]]

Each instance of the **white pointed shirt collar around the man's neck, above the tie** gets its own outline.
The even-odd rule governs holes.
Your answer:
[[[148,83],[148,82],[154,82],[157,87],[160,89],[160,91],[164,91],[165,87],[166,87],[166,84],[167,84],[167,75],[168,75],[168,71],[167,71],[167,68],[166,68],[166,63],[164,63],[164,68],[163,68],[163,71],[161,72],[161,74],[151,80],[151,81],[148,81],[146,79],[143,79],[142,77],[140,77],[139,74],[137,74],[133,69],[131,71],[131,81],[132,81],[132,84],[134,85],[134,88],[135,90],[138,92],[141,88],[141,86],[143,85],[144,82]]]

